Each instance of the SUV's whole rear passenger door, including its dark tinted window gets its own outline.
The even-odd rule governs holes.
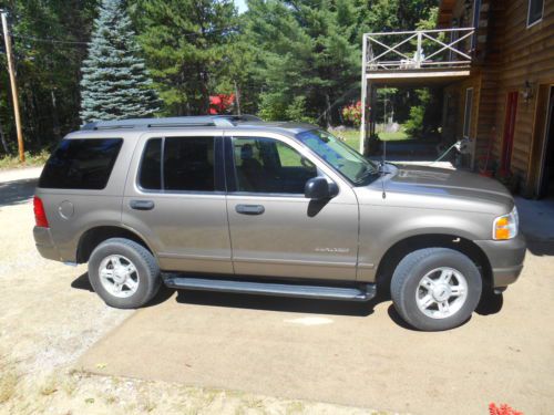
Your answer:
[[[222,139],[217,131],[141,138],[123,224],[152,245],[163,270],[233,272]]]

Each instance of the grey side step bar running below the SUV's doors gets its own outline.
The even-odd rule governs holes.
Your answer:
[[[363,284],[360,288],[307,286],[276,282],[252,282],[237,280],[216,280],[171,274],[165,284],[175,289],[203,291],[238,292],[248,294],[300,297],[309,299],[369,301],[376,297],[375,284]]]

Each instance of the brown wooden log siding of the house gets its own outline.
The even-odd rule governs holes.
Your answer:
[[[464,20],[460,15],[463,2],[458,0],[455,6],[447,4],[445,9],[454,11],[449,18]],[[445,89],[451,93],[458,91],[460,120],[456,136],[461,137],[463,128],[465,87],[472,84],[474,110],[478,111],[472,126],[476,136],[475,158],[484,158],[491,148],[489,168],[493,163],[497,165],[503,147],[507,94],[519,92],[511,168],[521,178],[522,193],[532,196],[541,168],[547,85],[554,85],[554,1],[544,1],[543,19],[531,28],[527,28],[529,0],[483,0],[482,4],[486,6],[480,15],[480,53],[472,74],[470,79]],[[439,17],[442,24],[447,20],[447,17]],[[486,21],[485,30],[481,23],[483,20]],[[529,102],[522,95],[526,81],[533,91]]]

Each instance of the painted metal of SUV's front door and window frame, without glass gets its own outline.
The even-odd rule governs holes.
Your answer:
[[[280,141],[315,164],[319,175],[339,188],[336,197],[324,201],[310,200],[304,195],[230,191],[227,212],[235,272],[356,280],[358,200],[351,187],[289,136],[244,129],[226,132],[226,135]],[[234,174],[233,166],[227,166],[227,175],[230,174]],[[242,215],[236,210],[237,205],[263,206],[265,211]]]

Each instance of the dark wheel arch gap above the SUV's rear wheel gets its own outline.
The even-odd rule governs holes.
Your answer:
[[[89,261],[92,251],[103,241],[110,238],[125,238],[135,241],[136,243],[146,248],[154,257],[154,250],[146,243],[137,232],[129,228],[114,225],[95,226],[88,229],[79,238],[76,248],[76,263],[84,263]]]

